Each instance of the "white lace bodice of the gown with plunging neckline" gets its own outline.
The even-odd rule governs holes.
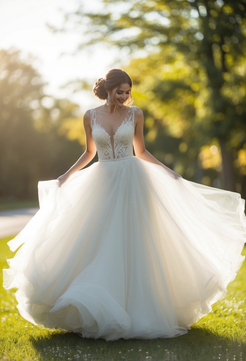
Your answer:
[[[112,147],[110,135],[104,127],[101,126],[101,123],[98,124],[96,122],[96,109],[91,109],[92,138],[96,144],[99,161],[133,157],[132,147],[135,132],[134,113],[136,109],[136,106],[130,106],[126,118],[117,128],[117,131],[113,135],[114,147]]]

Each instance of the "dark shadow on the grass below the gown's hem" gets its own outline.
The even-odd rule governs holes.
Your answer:
[[[246,360],[246,342],[235,342],[199,327],[175,338],[121,338],[113,342],[82,338],[73,332],[58,332],[55,330],[40,338],[31,336],[30,342],[40,353],[40,360]]]

